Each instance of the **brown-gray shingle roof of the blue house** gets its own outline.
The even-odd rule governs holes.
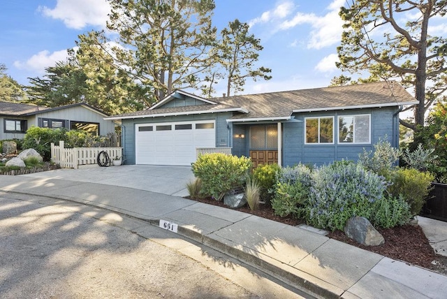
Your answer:
[[[200,114],[207,111],[230,110],[232,119],[274,119],[290,117],[293,112],[338,110],[390,105],[409,105],[416,99],[395,82],[374,82],[342,87],[300,89],[288,92],[247,94],[213,98],[216,105],[191,105],[184,107],[156,108],[114,115],[111,118],[155,117],[161,115]],[[239,109],[239,110],[238,110]],[[245,111],[242,111],[245,110]]]

